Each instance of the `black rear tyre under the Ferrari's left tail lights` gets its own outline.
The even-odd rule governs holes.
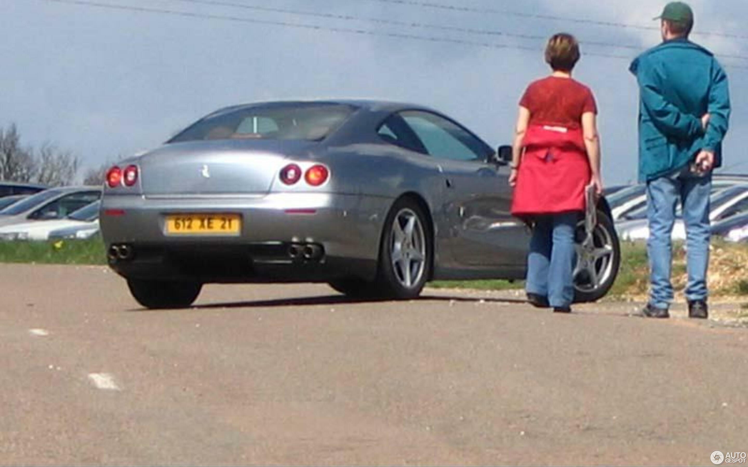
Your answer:
[[[135,300],[149,309],[186,308],[194,303],[203,285],[196,282],[166,282],[127,279]]]

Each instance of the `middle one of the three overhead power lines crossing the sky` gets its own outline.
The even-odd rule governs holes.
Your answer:
[[[539,35],[533,35],[533,34],[517,34],[517,33],[511,33],[511,32],[504,32],[504,31],[495,31],[491,29],[465,28],[462,26],[452,26],[452,25],[435,25],[435,24],[429,24],[429,23],[423,23],[423,22],[399,21],[396,19],[371,18],[371,17],[362,17],[362,16],[354,16],[354,15],[339,14],[339,13],[320,13],[320,12],[308,11],[308,10],[304,11],[304,10],[295,10],[295,9],[290,9],[290,8],[266,7],[266,6],[260,6],[260,5],[236,3],[235,1],[224,1],[224,0],[171,0],[171,1],[180,1],[182,3],[188,3],[188,4],[203,4],[203,5],[216,6],[216,7],[241,8],[244,10],[263,11],[266,13],[283,13],[283,14],[288,14],[292,16],[309,16],[309,17],[321,18],[321,19],[337,19],[337,20],[343,20],[343,21],[371,22],[374,24],[399,26],[399,27],[405,27],[405,28],[433,29],[437,31],[450,31],[450,32],[458,32],[462,34],[476,34],[476,35],[484,35],[484,36],[492,36],[492,37],[510,37],[513,39],[521,39],[521,40],[541,40],[541,41],[548,40],[548,37],[546,36],[539,36]],[[593,40],[584,40],[582,44],[585,46],[609,47],[613,49],[628,49],[628,50],[636,50],[636,51],[642,50],[642,46],[636,46],[636,45],[630,45],[630,44],[618,44],[618,43],[610,43],[610,42],[598,42],[598,41],[593,41]],[[747,60],[748,61],[748,56],[742,56],[742,55],[715,54],[715,56],[720,57],[720,58],[733,58],[736,60]]]

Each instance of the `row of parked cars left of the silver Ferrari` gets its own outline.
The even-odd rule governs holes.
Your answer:
[[[99,232],[101,193],[93,186],[0,182],[0,241],[91,238]]]

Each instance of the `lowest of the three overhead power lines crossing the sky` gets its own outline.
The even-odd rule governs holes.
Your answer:
[[[455,39],[451,37],[431,37],[431,36],[423,36],[420,34],[406,34],[406,33],[391,32],[391,31],[373,31],[370,29],[360,29],[360,28],[340,28],[336,26],[314,25],[314,24],[302,23],[302,22],[286,22],[286,21],[277,21],[277,20],[272,20],[272,19],[258,19],[258,18],[247,18],[243,16],[217,15],[217,14],[210,14],[210,13],[197,13],[197,12],[192,12],[192,11],[171,10],[167,8],[138,7],[135,5],[127,5],[127,4],[101,3],[99,1],[93,1],[93,0],[38,0],[38,1],[46,1],[48,3],[58,3],[58,4],[72,4],[72,5],[79,5],[79,6],[85,6],[85,7],[96,7],[96,8],[103,8],[103,9],[108,9],[108,10],[131,11],[131,12],[138,12],[138,13],[156,13],[156,14],[171,15],[171,16],[183,16],[183,17],[193,18],[193,19],[216,19],[216,20],[224,20],[224,21],[251,23],[251,24],[257,24],[257,25],[274,25],[274,26],[281,26],[285,28],[298,28],[298,29],[306,29],[306,30],[312,30],[312,31],[328,31],[328,32],[340,33],[340,34],[358,34],[358,35],[363,35],[363,36],[391,37],[394,39],[420,40],[420,41],[431,42],[431,43],[451,43],[451,44],[462,45],[462,46],[482,47],[485,49],[503,49],[503,50],[517,49],[517,50],[524,50],[524,51],[530,51],[530,52],[539,52],[539,49],[537,47],[522,46],[518,44],[479,42],[479,41],[473,41],[473,40]],[[628,55],[605,54],[605,53],[598,53],[598,52],[586,52],[585,55],[592,56],[592,57],[600,57],[600,58],[613,58],[613,59],[619,59],[619,60],[631,60],[632,59],[632,57]],[[739,69],[748,69],[748,67],[741,67],[741,66],[735,66],[735,65],[731,65],[731,67],[739,68]]]

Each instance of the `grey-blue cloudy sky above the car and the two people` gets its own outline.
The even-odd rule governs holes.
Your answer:
[[[492,146],[510,143],[521,94],[549,72],[545,40],[517,36],[569,32],[582,43],[574,78],[598,101],[606,185],[637,179],[638,90],[628,65],[660,42],[652,18],[666,3],[0,1],[0,126],[16,123],[24,143],[54,143],[85,167],[158,146],[218,108],[275,99],[413,102],[450,115]],[[748,2],[690,4],[692,39],[719,56],[730,78],[723,171],[748,173],[748,34],[738,22],[748,17]]]

